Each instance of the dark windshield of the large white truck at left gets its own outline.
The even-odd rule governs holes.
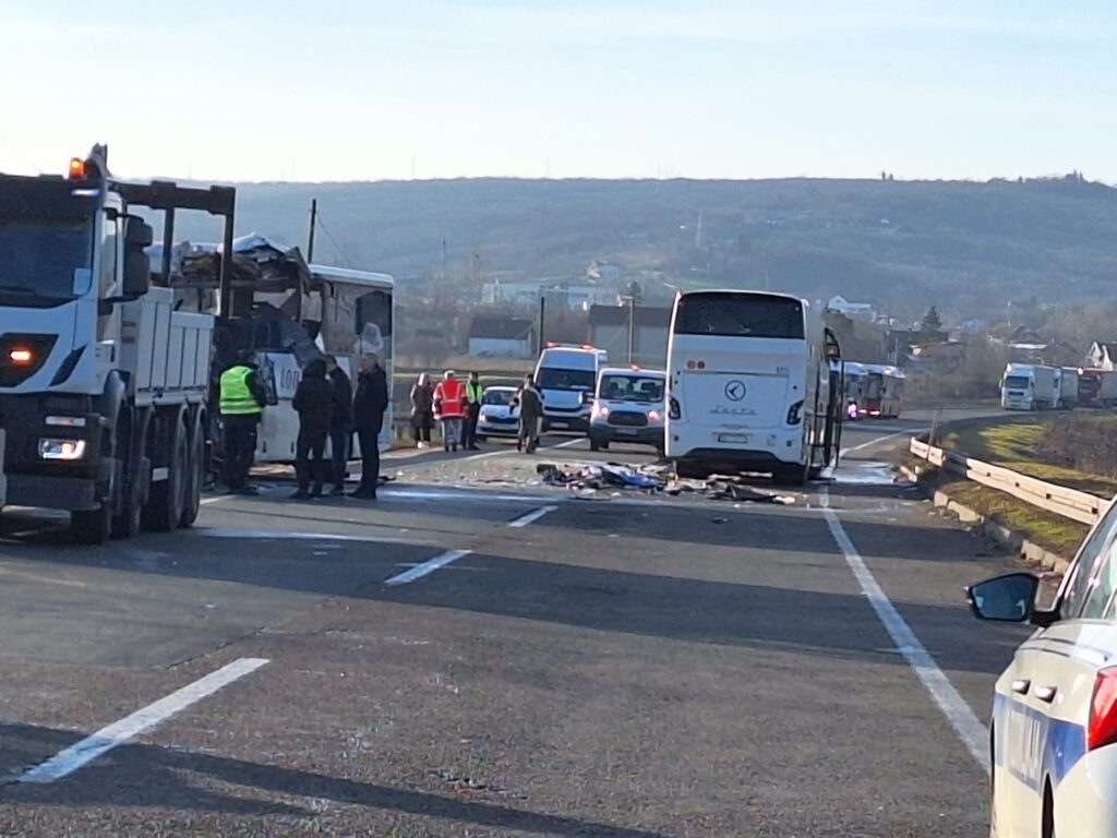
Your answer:
[[[0,301],[71,299],[74,272],[92,260],[89,218],[0,216]]]

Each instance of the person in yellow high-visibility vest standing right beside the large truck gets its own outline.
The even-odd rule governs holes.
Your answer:
[[[225,482],[230,494],[255,495],[257,489],[248,484],[248,473],[256,457],[256,426],[268,400],[255,353],[241,353],[237,363],[221,373],[220,389]]]

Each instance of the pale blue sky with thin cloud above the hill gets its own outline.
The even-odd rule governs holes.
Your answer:
[[[189,10],[188,10],[189,9]],[[1117,181],[1111,0],[0,0],[0,171]]]

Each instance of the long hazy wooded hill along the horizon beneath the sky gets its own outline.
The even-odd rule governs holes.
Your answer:
[[[934,303],[957,320],[1032,295],[1108,299],[1117,277],[1117,190],[1078,175],[242,184],[238,227],[305,245],[312,198],[319,260],[437,276],[445,239],[461,283],[475,264],[483,276],[576,276],[596,259],[682,286],[842,294],[904,317]],[[180,230],[204,237],[191,223]]]

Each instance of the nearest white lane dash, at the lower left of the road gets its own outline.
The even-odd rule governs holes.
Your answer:
[[[106,751],[126,744],[141,733],[165,722],[191,704],[195,704],[202,698],[213,695],[213,693],[232,684],[235,680],[256,672],[267,663],[266,658],[239,658],[231,664],[226,664],[220,669],[210,673],[203,678],[199,678],[193,684],[188,684],[169,696],[160,698],[154,704],[149,704],[132,715],[125,716],[120,722],[114,722],[107,727],[102,727],[92,736],[86,736],[80,742],[60,751],[46,762],[36,765],[20,777],[19,781],[25,783],[49,783],[55,780],[61,780],[67,774],[74,773],[97,759]]]

